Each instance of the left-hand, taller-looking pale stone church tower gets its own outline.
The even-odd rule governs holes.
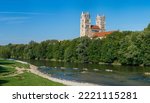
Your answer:
[[[80,37],[91,35],[91,20],[90,20],[90,14],[88,12],[81,14],[80,19]]]

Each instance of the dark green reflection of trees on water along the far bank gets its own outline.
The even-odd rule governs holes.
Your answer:
[[[100,65],[100,64],[87,64],[87,63],[65,63],[65,62],[56,62],[56,61],[46,61],[46,60],[30,60],[28,61],[37,66],[47,66],[47,67],[65,67],[65,68],[88,68],[89,70],[99,69],[99,70],[113,70],[118,72],[125,73],[134,73],[134,72],[145,72],[150,71],[148,67],[140,66],[114,66],[114,65]]]

